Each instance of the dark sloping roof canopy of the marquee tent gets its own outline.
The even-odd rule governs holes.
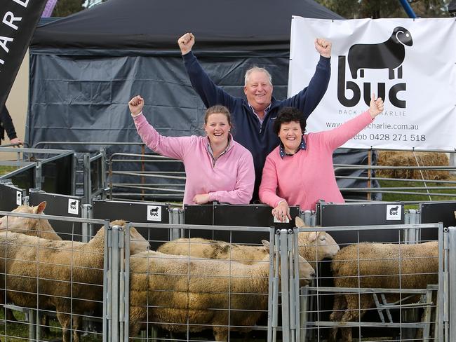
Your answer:
[[[288,50],[292,15],[342,19],[313,0],[109,0],[40,27],[32,47],[174,51],[192,31],[199,50]]]

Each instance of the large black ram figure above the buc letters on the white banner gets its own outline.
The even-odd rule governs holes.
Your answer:
[[[405,46],[412,46],[412,35],[407,29],[398,26],[387,41],[378,44],[355,44],[348,54],[351,77],[364,77],[364,69],[388,69],[389,79],[402,78],[402,63],[405,58]]]

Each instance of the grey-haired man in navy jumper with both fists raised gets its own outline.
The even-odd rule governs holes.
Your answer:
[[[235,127],[234,139],[252,153],[255,165],[253,200],[257,200],[264,160],[279,145],[279,137],[272,130],[276,114],[282,107],[296,107],[304,113],[305,118],[314,111],[328,88],[331,74],[331,43],[325,39],[315,40],[315,48],[320,53],[315,74],[307,88],[286,100],[276,100],[272,97],[271,75],[266,69],[259,67],[253,67],[246,72],[246,99],[229,95],[213,83],[192,53],[194,35],[186,33],[177,39],[177,43],[196,93],[206,107],[222,104],[229,109]]]

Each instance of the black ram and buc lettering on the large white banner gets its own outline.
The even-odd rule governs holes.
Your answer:
[[[344,107],[355,107],[361,100],[362,91],[363,100],[367,105],[370,102],[370,94],[376,93],[382,99],[388,98],[394,107],[405,108],[405,101],[398,97],[398,93],[407,88],[405,82],[398,82],[387,91],[386,82],[377,83],[377,88],[375,88],[369,82],[358,85],[354,81],[346,81],[345,70],[346,61],[348,61],[349,75],[356,81],[363,81],[365,72],[369,69],[387,69],[389,80],[400,80],[403,77],[406,47],[412,45],[412,34],[401,26],[395,27],[389,39],[382,43],[352,45],[347,56],[340,55],[338,60],[337,100],[340,104]],[[353,94],[351,98],[346,96],[346,90],[351,90]]]

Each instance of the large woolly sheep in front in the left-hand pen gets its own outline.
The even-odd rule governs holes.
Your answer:
[[[148,249],[149,242],[133,227],[130,238],[130,252]],[[6,285],[8,301],[27,308],[55,308],[64,342],[69,341],[73,313],[73,341],[79,342],[81,315],[95,310],[103,298],[105,229],[87,243],[6,231],[0,233],[0,247],[0,273],[7,275],[1,284]]]

